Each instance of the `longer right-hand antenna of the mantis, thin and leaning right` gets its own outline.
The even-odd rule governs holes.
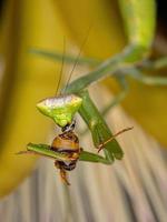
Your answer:
[[[71,71],[70,71],[70,73],[69,73],[69,78],[68,78],[66,88],[63,89],[63,92],[65,92],[65,93],[66,93],[66,90],[67,90],[67,88],[68,88],[68,85],[69,85],[69,82],[70,82],[70,79],[71,79],[71,77],[72,77],[72,73],[73,73],[73,71],[75,71],[75,69],[76,69],[76,67],[77,67],[77,64],[78,64],[78,61],[79,61],[80,54],[81,54],[81,52],[82,52],[82,49],[84,49],[84,47],[85,47],[85,44],[86,44],[86,42],[87,42],[87,40],[88,40],[90,30],[91,30],[91,26],[88,28],[87,34],[86,34],[86,37],[85,37],[85,39],[84,39],[84,41],[82,41],[82,44],[80,46],[80,50],[79,50],[79,52],[78,52],[78,56],[76,57],[76,61],[75,61],[75,63],[73,63],[73,67],[72,67],[72,69],[71,69]]]

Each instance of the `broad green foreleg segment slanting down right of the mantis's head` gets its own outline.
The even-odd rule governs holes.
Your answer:
[[[89,93],[87,91],[82,91],[79,95],[84,99],[79,113],[91,132],[95,147],[98,148],[109,138],[112,138],[112,134],[104,118],[91,101]],[[109,141],[104,145],[104,148],[106,159],[111,162],[114,162],[115,159],[121,159],[124,155],[122,150],[116,140]]]

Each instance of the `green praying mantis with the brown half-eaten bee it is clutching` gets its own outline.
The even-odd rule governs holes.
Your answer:
[[[72,170],[78,159],[104,164],[111,164],[115,159],[120,160],[124,153],[118,142],[115,140],[115,137],[131,129],[126,128],[112,135],[90,99],[87,88],[91,83],[109,75],[118,78],[124,89],[127,89],[126,75],[148,84],[167,84],[166,78],[148,78],[137,69],[137,65],[148,57],[154,39],[156,20],[155,1],[119,0],[119,8],[124,18],[129,44],[121,53],[109,58],[105,62],[98,61],[97,68],[71,82],[65,89],[63,95],[47,98],[39,102],[37,108],[45,115],[53,119],[56,124],[62,129],[62,133],[55,138],[51,145],[29,143],[27,145],[27,151],[20,152],[53,158],[56,160],[56,167],[60,169],[61,178],[67,184],[69,184],[69,182],[67,180],[66,170]],[[37,50],[37,52],[47,56],[40,50]],[[48,58],[50,56],[51,54],[48,54]],[[65,59],[68,60],[69,58],[65,56]],[[124,98],[124,95],[118,98]],[[115,103],[119,101],[118,98]],[[86,121],[91,132],[95,147],[98,150],[104,149],[105,157],[80,149],[78,137],[73,132],[73,117],[76,112],[79,112]]]

